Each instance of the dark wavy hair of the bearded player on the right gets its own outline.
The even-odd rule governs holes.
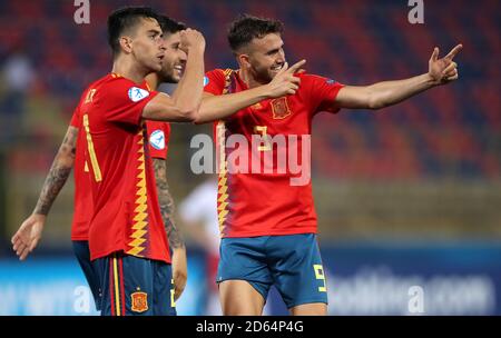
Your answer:
[[[284,24],[278,20],[240,14],[228,29],[228,42],[234,52],[253,39],[261,39],[271,33],[284,32]]]

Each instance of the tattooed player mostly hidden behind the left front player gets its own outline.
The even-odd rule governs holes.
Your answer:
[[[149,74],[147,78],[150,88],[157,88],[161,82],[179,82],[186,63],[186,53],[179,48],[180,31],[186,29],[186,27],[164,16],[159,17],[159,21],[164,32],[166,50],[161,70]],[[168,190],[166,177],[165,159],[167,156],[170,126],[165,122],[146,121],[146,127],[149,139],[149,151],[155,168],[161,217],[168,235],[169,245],[173,248],[174,300],[177,300],[186,286],[187,266],[185,245],[173,219],[174,202]],[[12,237],[12,243],[13,249],[21,260],[26,259],[29,252],[35,249],[41,238],[49,209],[68,179],[71,168],[75,166],[76,190],[71,240],[73,251],[85,272],[99,310],[100,287],[92,265],[90,264],[87,241],[92,201],[89,191],[88,165],[84,158],[85,138],[78,141],[79,147],[77,147],[77,138],[80,129],[78,113],[75,113],[49,176],[46,179],[37,207],[33,213],[23,221],[20,229]],[[85,133],[80,133],[80,137],[82,136],[85,137]]]

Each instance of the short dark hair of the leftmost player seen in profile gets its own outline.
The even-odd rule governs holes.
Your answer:
[[[125,7],[117,9],[108,17],[108,43],[114,57],[120,52],[120,36],[139,23],[140,19],[158,21],[158,14],[149,7]]]

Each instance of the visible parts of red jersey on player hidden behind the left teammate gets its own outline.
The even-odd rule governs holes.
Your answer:
[[[85,160],[86,133],[81,129],[78,108],[75,109],[70,126],[78,128],[77,150],[75,155],[75,208],[71,223],[71,240],[88,240],[89,223],[92,216],[92,195],[90,193],[89,167]],[[153,158],[166,160],[170,137],[170,123],[146,121],[149,151]]]

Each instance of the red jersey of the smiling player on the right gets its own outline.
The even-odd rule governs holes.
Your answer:
[[[278,159],[284,155],[295,158],[298,166],[305,165],[307,168],[304,169],[310,170],[312,118],[320,111],[338,111],[334,101],[343,86],[318,76],[303,73],[298,77],[301,86],[294,96],[261,101],[214,125],[220,171],[217,209],[222,237],[316,233],[310,172],[303,185],[292,185],[292,178],[302,173],[289,165],[281,171]],[[230,70],[209,71],[205,83],[204,90],[216,96],[248,89],[238,72]],[[238,135],[245,137],[249,147],[237,150],[235,142],[226,143]],[[253,145],[253,135],[263,139],[282,138],[285,142]],[[247,161],[249,169],[235,172],[233,169],[239,163],[229,159],[238,157],[236,151],[242,152],[242,149],[248,149],[248,153],[240,156],[239,162]],[[302,157],[303,151],[306,157]],[[268,171],[263,165],[266,156],[273,158]],[[261,158],[258,167],[255,167],[259,168],[258,172],[253,171],[256,158]]]

